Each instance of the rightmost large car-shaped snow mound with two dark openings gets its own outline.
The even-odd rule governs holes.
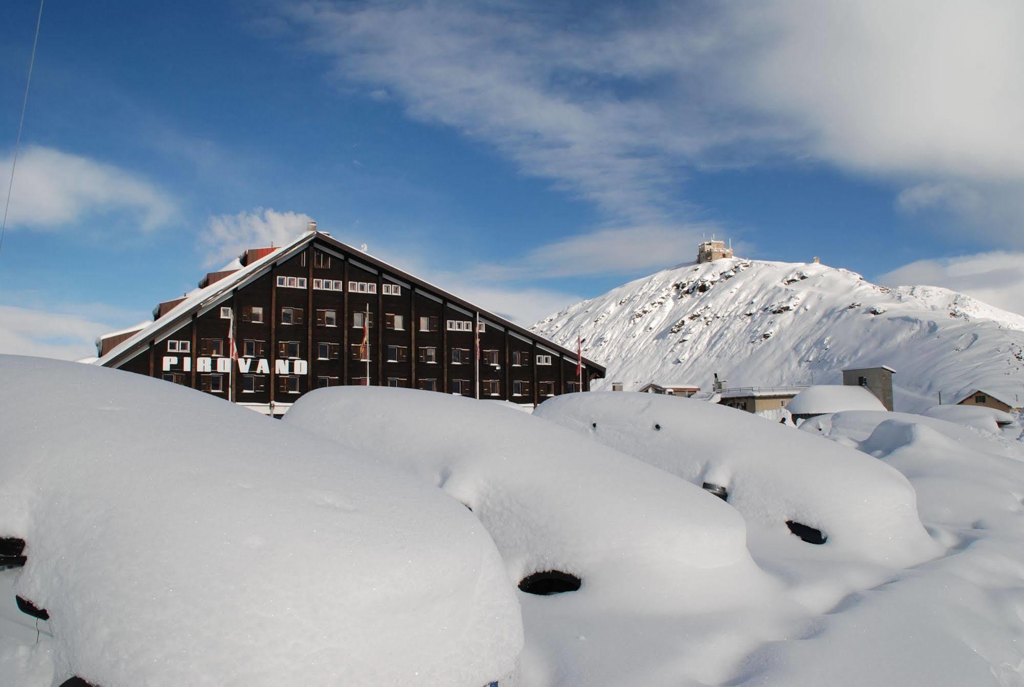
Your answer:
[[[898,567],[939,553],[902,475],[792,427],[723,405],[630,392],[556,396],[534,415],[694,484],[725,487],[749,525],[784,532],[786,521],[796,521],[820,530],[837,553]]]

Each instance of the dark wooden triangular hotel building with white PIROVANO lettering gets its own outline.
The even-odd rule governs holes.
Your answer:
[[[587,358],[578,375],[577,351],[310,228],[208,273],[154,321],[100,337],[95,364],[268,415],[341,384],[536,405],[604,377]]]

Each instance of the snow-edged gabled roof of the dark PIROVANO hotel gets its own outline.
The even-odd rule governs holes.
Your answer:
[[[432,291],[436,293],[438,296],[445,298],[450,303],[452,303],[455,306],[459,306],[469,310],[476,310],[480,313],[481,317],[485,317],[486,319],[495,323],[496,325],[500,325],[501,327],[508,329],[510,332],[515,332],[516,334],[522,337],[526,337],[527,339],[530,340],[543,341],[544,342],[543,345],[546,348],[550,348],[553,351],[560,353],[562,357],[567,357],[572,360],[575,359],[577,352],[574,350],[569,350],[568,348],[559,346],[558,344],[549,341],[548,339],[545,339],[544,337],[538,335],[535,332],[530,332],[529,330],[523,327],[519,327],[518,325],[511,323],[500,315],[497,315],[493,312],[484,310],[483,308],[473,305],[469,301],[466,301],[462,298],[459,298],[458,296],[450,294],[443,289],[439,289],[438,287],[435,287],[429,282],[425,282],[424,280],[421,280],[417,276],[413,276],[412,274],[404,272],[400,269],[397,269],[386,262],[378,260],[377,258],[368,255],[367,253],[364,253],[362,251],[356,248],[352,248],[347,244],[343,244],[337,239],[331,237],[331,234],[329,233],[325,233],[323,231],[306,231],[297,239],[295,239],[295,241],[288,244],[287,246],[283,246],[276,251],[268,255],[265,255],[259,258],[258,260],[251,262],[245,267],[239,269],[237,272],[228,274],[219,282],[215,282],[214,284],[211,284],[204,289],[198,289],[194,292],[190,292],[183,301],[175,305],[163,317],[160,317],[159,319],[153,321],[152,324],[150,324],[148,327],[146,327],[142,331],[133,335],[131,338],[126,339],[124,342],[118,344],[112,351],[110,351],[106,355],[97,359],[93,364],[110,366],[116,362],[118,363],[122,362],[124,355],[139,343],[148,341],[150,339],[162,339],[166,336],[169,336],[179,327],[184,325],[191,317],[193,312],[196,312],[206,307],[211,307],[213,305],[216,305],[217,302],[227,299],[230,296],[231,292],[233,292],[236,289],[244,286],[245,284],[248,284],[257,276],[260,276],[264,271],[268,270],[271,266],[273,266],[273,264],[278,262],[283,262],[285,260],[288,260],[289,258],[294,257],[302,250],[304,250],[306,246],[309,243],[311,243],[314,239],[326,244],[329,247],[334,247],[338,250],[344,251],[351,255],[358,256],[359,261],[374,267],[375,269],[379,269],[380,271],[386,272],[399,280],[403,280],[415,286],[419,286],[422,289],[427,289],[429,291]],[[588,368],[592,370],[598,370],[601,372],[602,375],[605,373],[604,366],[598,364],[586,357],[583,358],[583,361]]]

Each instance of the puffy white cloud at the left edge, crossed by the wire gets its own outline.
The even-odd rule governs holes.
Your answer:
[[[0,168],[9,170],[10,164],[8,156]],[[18,156],[9,226],[54,228],[114,213],[152,230],[170,221],[176,209],[160,188],[119,167],[40,145]]]

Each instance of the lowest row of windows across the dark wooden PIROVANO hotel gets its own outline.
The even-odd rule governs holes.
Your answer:
[[[210,393],[224,393],[225,387],[225,377],[226,375],[200,375],[199,387],[202,391],[209,391]],[[302,377],[296,375],[281,375],[278,378],[278,391],[280,393],[288,394],[298,394],[302,393]],[[164,380],[168,382],[173,382],[175,384],[185,384],[185,375],[183,373],[165,373]],[[266,375],[243,375],[242,376],[242,393],[259,393],[266,391]],[[366,386],[368,384],[368,378],[356,377],[353,379],[355,384],[361,384]],[[319,376],[316,378],[316,388],[337,386],[338,378],[330,376]],[[400,377],[388,377],[387,385],[390,387],[408,387],[409,380]],[[437,380],[436,379],[421,379],[417,385],[419,388],[427,391],[437,390]],[[567,390],[579,391],[579,383],[568,382]],[[469,396],[473,394],[471,383],[466,379],[454,379],[450,384],[451,393],[461,394]],[[542,396],[553,396],[555,395],[555,383],[554,382],[540,382],[538,384],[538,390]],[[501,382],[499,380],[482,380],[480,382],[480,395],[482,396],[500,396],[502,393]],[[512,395],[513,396],[526,396],[529,395],[529,382],[513,381],[512,382]]]

